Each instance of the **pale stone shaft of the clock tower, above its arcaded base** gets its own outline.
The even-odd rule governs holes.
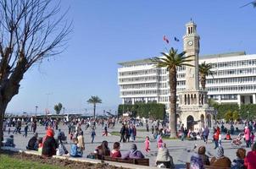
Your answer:
[[[199,90],[198,78],[198,53],[200,36],[197,34],[197,25],[191,20],[186,24],[186,35],[183,36],[184,51],[186,57],[192,59],[189,64],[194,67],[186,66],[186,90]]]

